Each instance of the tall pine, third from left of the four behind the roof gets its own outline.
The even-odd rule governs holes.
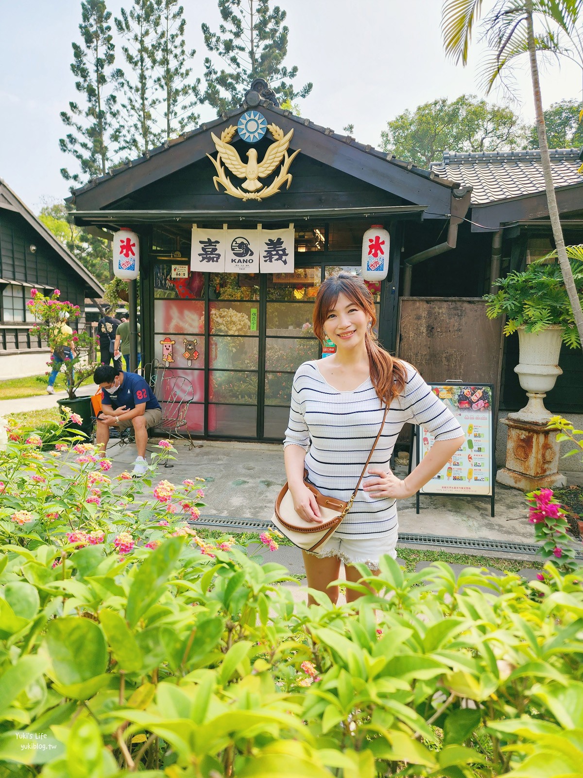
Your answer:
[[[184,41],[184,9],[178,0],[157,0],[160,26],[155,44],[157,71],[155,84],[160,90],[163,116],[161,134],[169,140],[197,125],[195,108],[201,97],[201,79],[192,79],[187,62],[196,51],[187,51]]]

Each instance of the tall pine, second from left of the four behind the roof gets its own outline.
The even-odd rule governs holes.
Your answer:
[[[120,151],[130,156],[147,154],[159,145],[155,108],[159,104],[156,92],[156,37],[160,26],[159,8],[152,0],[134,0],[129,12],[120,11],[115,19],[121,51],[127,67],[121,79],[124,103],[120,110]]]

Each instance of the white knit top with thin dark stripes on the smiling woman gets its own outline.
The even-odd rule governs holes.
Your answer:
[[[405,365],[407,385],[390,405],[369,467],[389,465],[397,436],[406,422],[423,425],[434,433],[435,440],[463,435],[449,408],[413,366]],[[370,377],[354,391],[338,391],[323,378],[316,360],[305,362],[294,376],[284,447],[301,446],[307,452],[305,468],[309,482],[323,494],[347,502],[379,433],[384,412],[385,406]],[[396,499],[370,496],[362,489],[366,482],[365,475],[351,510],[335,533],[337,538],[374,538],[396,527]]]

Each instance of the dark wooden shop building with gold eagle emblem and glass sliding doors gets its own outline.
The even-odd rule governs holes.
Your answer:
[[[250,116],[255,124],[245,124]],[[236,132],[242,122],[270,133],[250,139],[244,129]],[[269,170],[270,149],[286,138],[289,156]],[[243,172],[232,174],[239,164]],[[260,197],[249,195],[257,191]],[[444,170],[421,170],[281,110],[267,85],[256,82],[239,109],[113,170],[72,199],[77,223],[138,233],[142,359],[163,356],[190,380],[190,431],[276,441],[285,431],[295,369],[320,354],[311,327],[317,288],[340,268],[359,272],[363,233],[372,225],[390,234],[389,274],[369,286],[381,342],[416,361],[428,380],[497,383],[501,326],[487,321],[481,301],[490,289],[497,230],[473,232],[471,196],[471,184]],[[293,225],[295,271],[193,270],[199,251],[191,245],[193,225]],[[456,326],[444,336],[452,317]],[[431,338],[434,332],[439,338]]]

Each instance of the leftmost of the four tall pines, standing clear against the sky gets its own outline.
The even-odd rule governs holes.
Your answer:
[[[72,44],[71,70],[78,79],[75,89],[82,94],[85,105],[71,102],[69,112],[61,112],[61,119],[70,131],[59,139],[61,151],[74,156],[81,168],[80,173],[61,168],[61,175],[75,184],[106,175],[113,163],[118,116],[115,90],[121,77],[120,70],[113,68],[111,13],[106,10],[104,0],[82,2],[81,13],[82,43]]]

